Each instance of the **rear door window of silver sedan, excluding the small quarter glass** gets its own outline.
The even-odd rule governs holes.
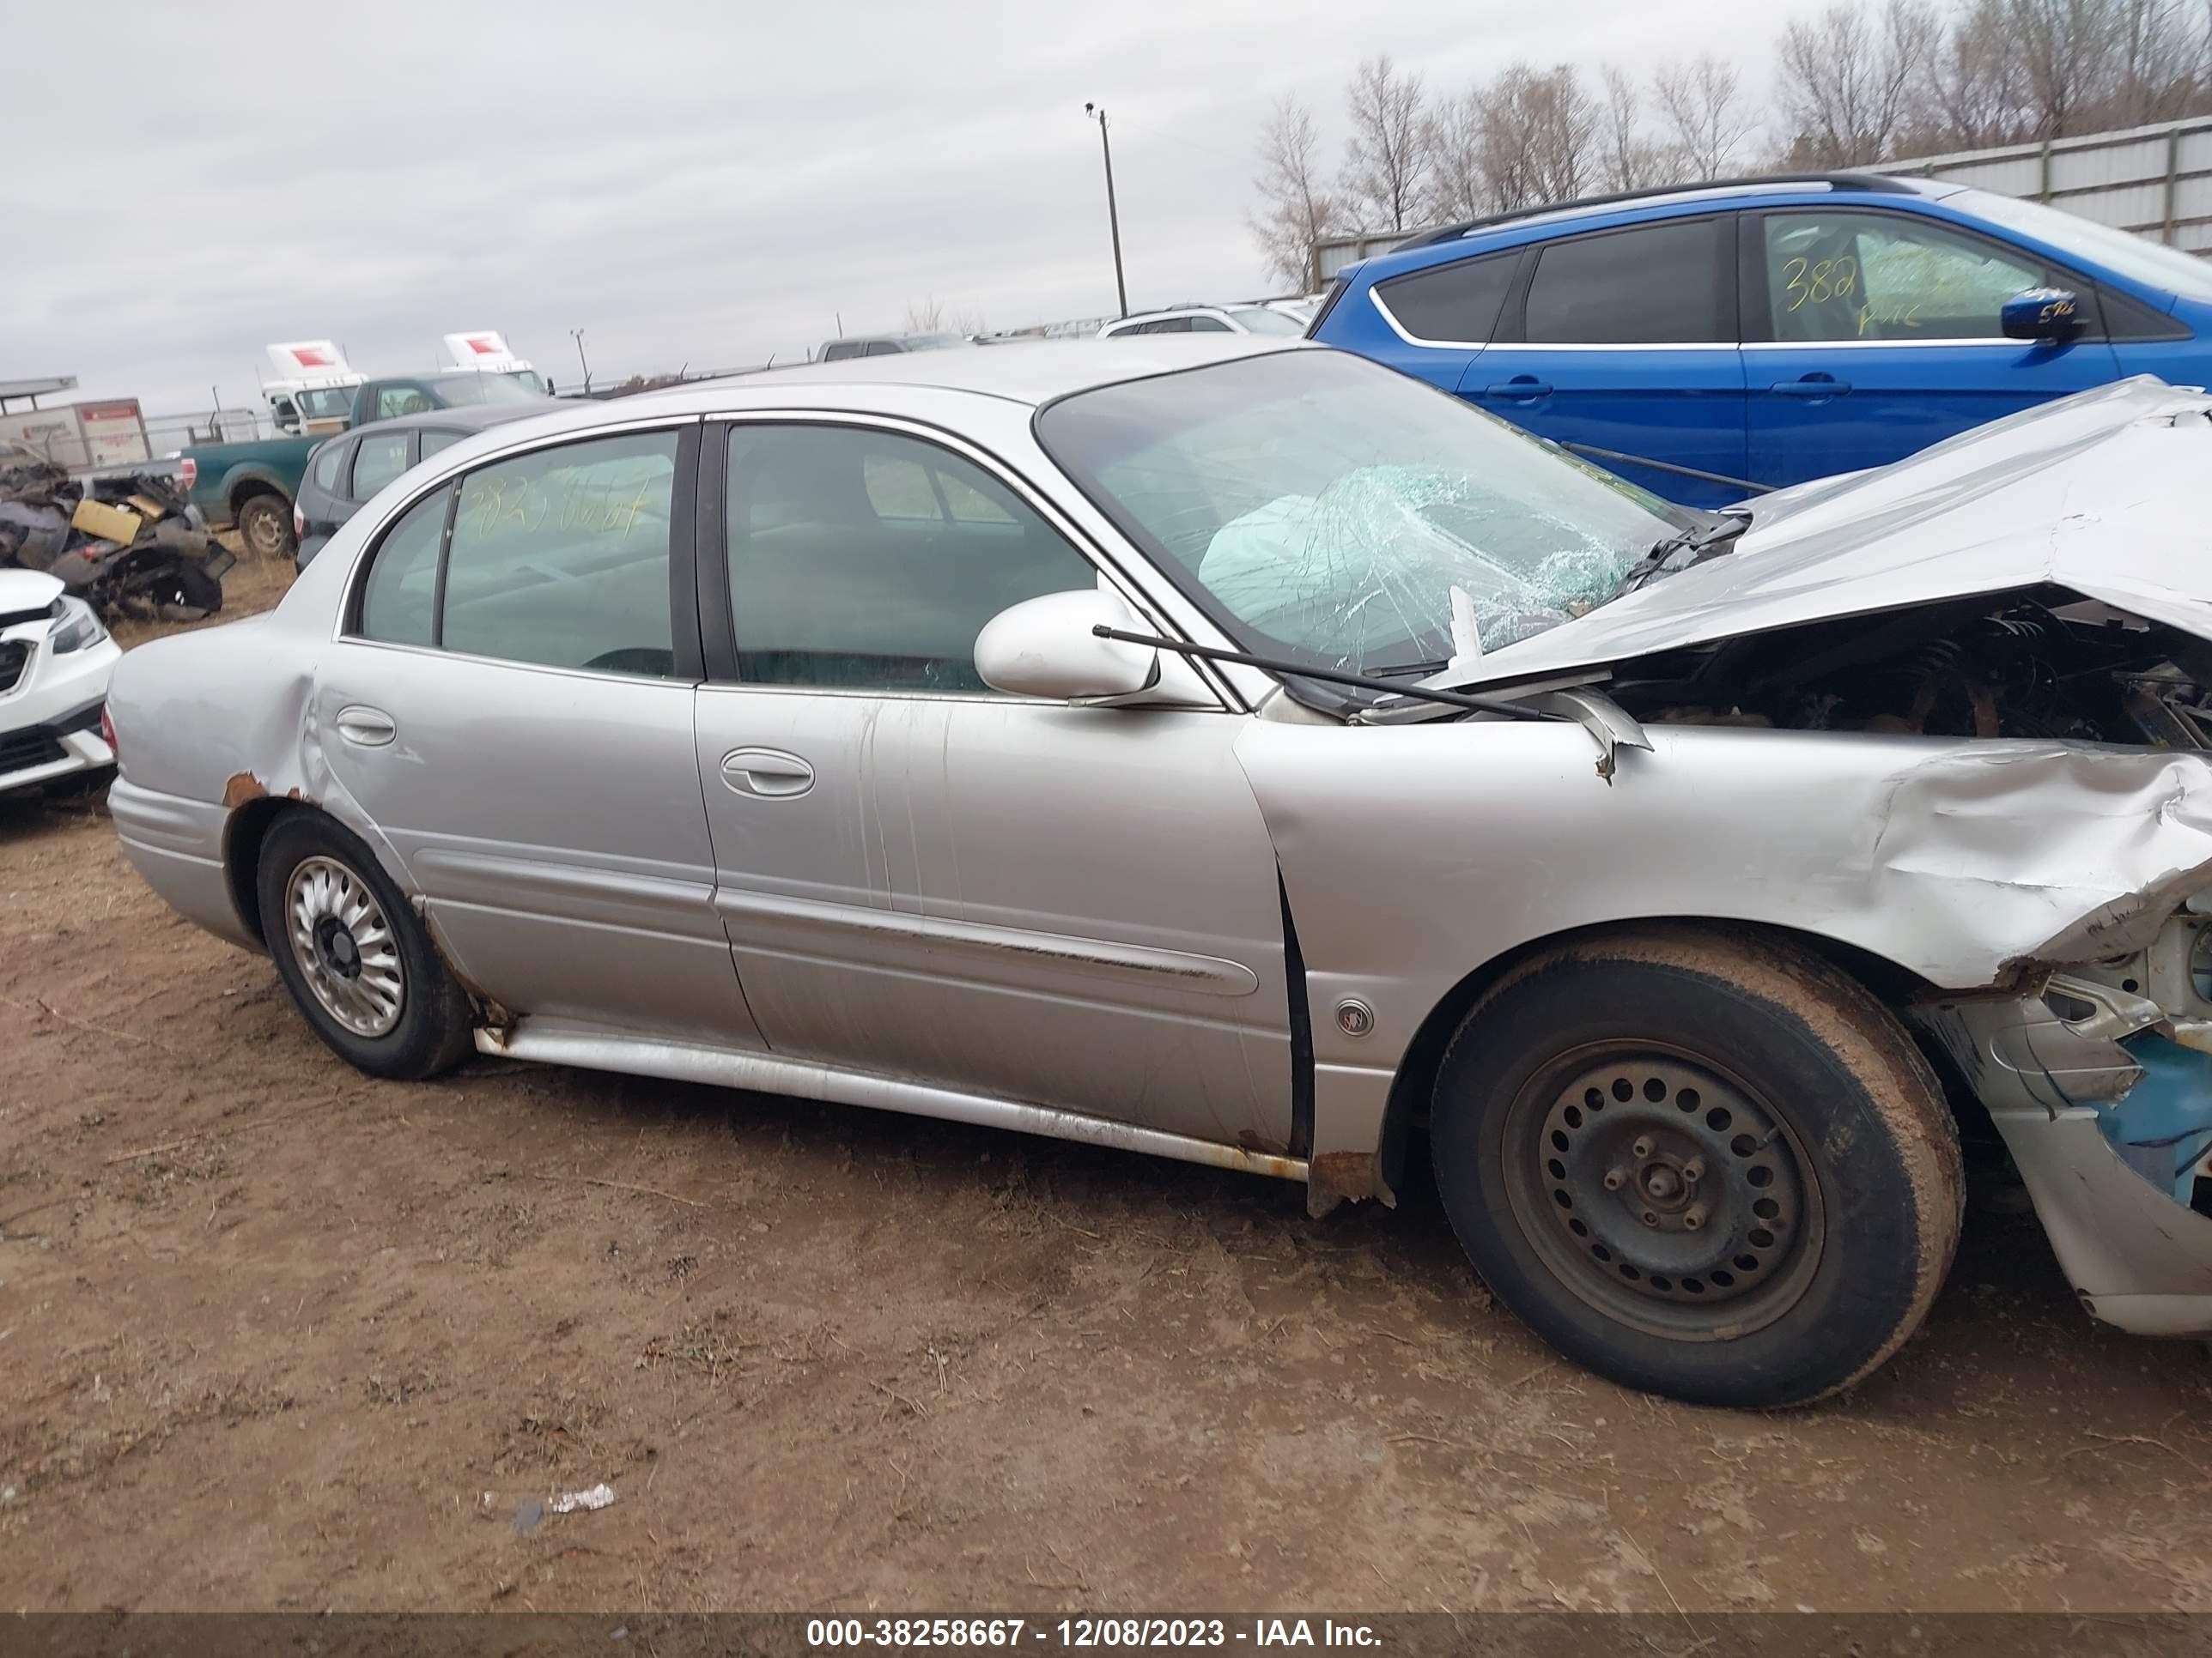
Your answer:
[[[672,674],[675,471],[677,433],[639,431],[467,473],[438,643],[549,668]]]

